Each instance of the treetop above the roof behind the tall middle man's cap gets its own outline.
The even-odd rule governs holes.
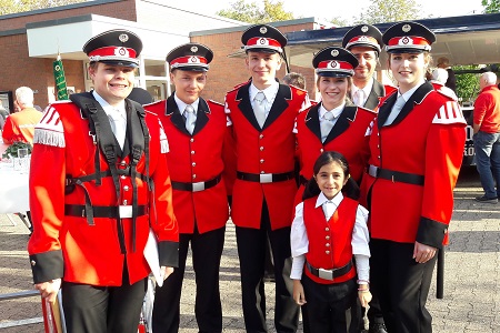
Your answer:
[[[247,3],[244,0],[237,0],[230,2],[229,9],[222,9],[217,14],[249,23],[267,23],[293,19],[293,14],[284,10],[283,1],[273,2],[271,0],[263,0],[262,6],[258,2]]]

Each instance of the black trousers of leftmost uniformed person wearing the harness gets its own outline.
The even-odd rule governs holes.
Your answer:
[[[147,279],[129,284],[123,266],[121,286],[62,283],[67,332],[137,333],[148,289]]]

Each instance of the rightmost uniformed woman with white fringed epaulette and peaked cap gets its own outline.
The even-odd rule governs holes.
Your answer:
[[[398,91],[380,101],[361,185],[371,290],[388,332],[432,332],[426,302],[453,211],[467,123],[457,101],[424,80],[436,41],[427,27],[400,22],[382,40]]]

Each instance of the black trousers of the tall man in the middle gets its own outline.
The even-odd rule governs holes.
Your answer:
[[[296,332],[299,325],[299,305],[293,301],[293,283],[290,279],[290,228],[272,231],[268,206],[263,202],[260,229],[237,226],[236,234],[247,332],[268,332],[263,283],[267,236],[271,242],[274,260],[274,327],[278,333]]]

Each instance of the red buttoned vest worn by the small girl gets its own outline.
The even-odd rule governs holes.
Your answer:
[[[323,209],[316,208],[318,196],[303,202],[303,223],[308,232],[309,249],[306,260],[316,269],[340,269],[352,260],[352,231],[356,223],[358,202],[343,198],[339,208],[330,220],[324,218]],[[334,281],[324,280],[311,274],[304,268],[306,274],[313,281],[322,284],[340,283],[356,276],[356,269],[351,270]]]

